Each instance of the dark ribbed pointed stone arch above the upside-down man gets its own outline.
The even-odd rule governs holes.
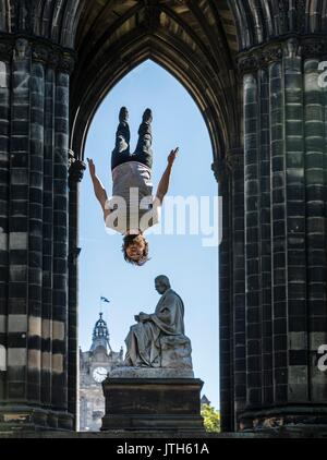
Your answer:
[[[105,95],[129,71],[152,59],[170,72],[197,104],[209,131],[216,161],[238,143],[240,132],[238,85],[231,53],[228,46],[215,48],[219,37],[221,44],[228,45],[223,28],[227,19],[219,19],[214,2],[203,2],[206,11],[197,7],[197,2],[190,2],[187,13],[193,14],[198,27],[194,32],[178,14],[182,8],[179,3],[184,2],[172,2],[177,3],[175,10],[165,4],[156,8],[147,3],[150,2],[135,2],[116,22],[109,22],[105,31],[101,21],[112,10],[109,4],[101,10],[104,14],[98,13],[88,29],[82,19],[76,36],[80,60],[72,81],[71,148],[75,158],[83,160],[86,133]],[[213,22],[217,25],[217,32],[206,32],[210,31],[208,21],[211,29]],[[89,34],[95,34],[93,41]],[[232,34],[230,37],[235,39]]]

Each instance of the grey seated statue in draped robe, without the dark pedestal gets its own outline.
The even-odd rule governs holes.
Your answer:
[[[155,313],[135,316],[125,339],[124,366],[168,367],[192,370],[191,341],[184,335],[184,304],[171,289],[169,279],[161,275],[155,279],[161,294]]]

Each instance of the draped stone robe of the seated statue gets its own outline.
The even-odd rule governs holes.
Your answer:
[[[162,294],[149,319],[131,327],[125,339],[125,362],[135,367],[160,367],[162,335],[184,335],[184,304],[172,289]]]

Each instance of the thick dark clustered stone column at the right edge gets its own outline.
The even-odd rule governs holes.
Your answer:
[[[326,89],[322,40],[240,60],[244,104],[246,405],[250,429],[327,424]]]

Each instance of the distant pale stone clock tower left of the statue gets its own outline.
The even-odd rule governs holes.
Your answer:
[[[123,360],[123,349],[112,351],[107,323],[99,315],[93,329],[89,351],[80,349],[80,431],[96,432],[105,414],[101,383],[108,372]]]

